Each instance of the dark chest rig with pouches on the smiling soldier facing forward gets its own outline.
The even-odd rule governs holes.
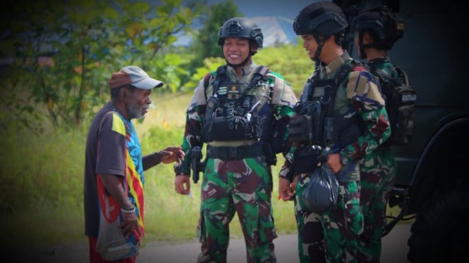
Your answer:
[[[232,82],[226,75],[226,66],[217,69],[207,100],[202,133],[205,141],[259,140],[262,120],[257,111],[261,96],[250,92],[266,81],[268,68],[259,66],[250,82]]]

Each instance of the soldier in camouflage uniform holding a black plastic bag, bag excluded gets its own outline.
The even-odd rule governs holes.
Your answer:
[[[301,117],[303,105],[319,107],[310,115],[312,139],[297,141],[290,126],[293,147],[279,174],[281,198],[295,195],[300,262],[358,262],[358,236],[363,231],[358,161],[390,133],[374,77],[341,48],[347,26],[341,9],[329,1],[306,6],[293,23],[316,70],[307,79],[291,124]],[[322,212],[307,210],[301,198],[317,167],[314,146],[329,146],[327,165],[339,181],[338,203]]]

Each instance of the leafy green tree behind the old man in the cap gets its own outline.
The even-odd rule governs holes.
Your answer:
[[[167,48],[192,30],[203,4],[20,0],[4,9],[0,58],[8,65],[0,69],[0,110],[6,111],[0,125],[19,121],[34,129],[49,120],[76,127],[107,99],[111,72],[130,64],[176,90],[187,62]]]

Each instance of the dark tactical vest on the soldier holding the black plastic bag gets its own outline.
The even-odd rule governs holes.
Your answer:
[[[296,115],[288,124],[288,138],[300,145],[293,158],[295,174],[314,172],[319,155],[317,146],[325,148],[338,142],[343,148],[363,134],[365,125],[357,114],[346,117],[334,110],[334,106],[339,106],[334,105],[337,89],[349,72],[363,66],[363,63],[352,60],[342,65],[331,79],[317,79],[318,72],[313,79],[307,79],[301,101],[294,108]]]

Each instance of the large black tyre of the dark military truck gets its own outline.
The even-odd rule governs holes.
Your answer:
[[[469,180],[456,181],[425,203],[410,228],[410,262],[459,262],[469,248]]]

